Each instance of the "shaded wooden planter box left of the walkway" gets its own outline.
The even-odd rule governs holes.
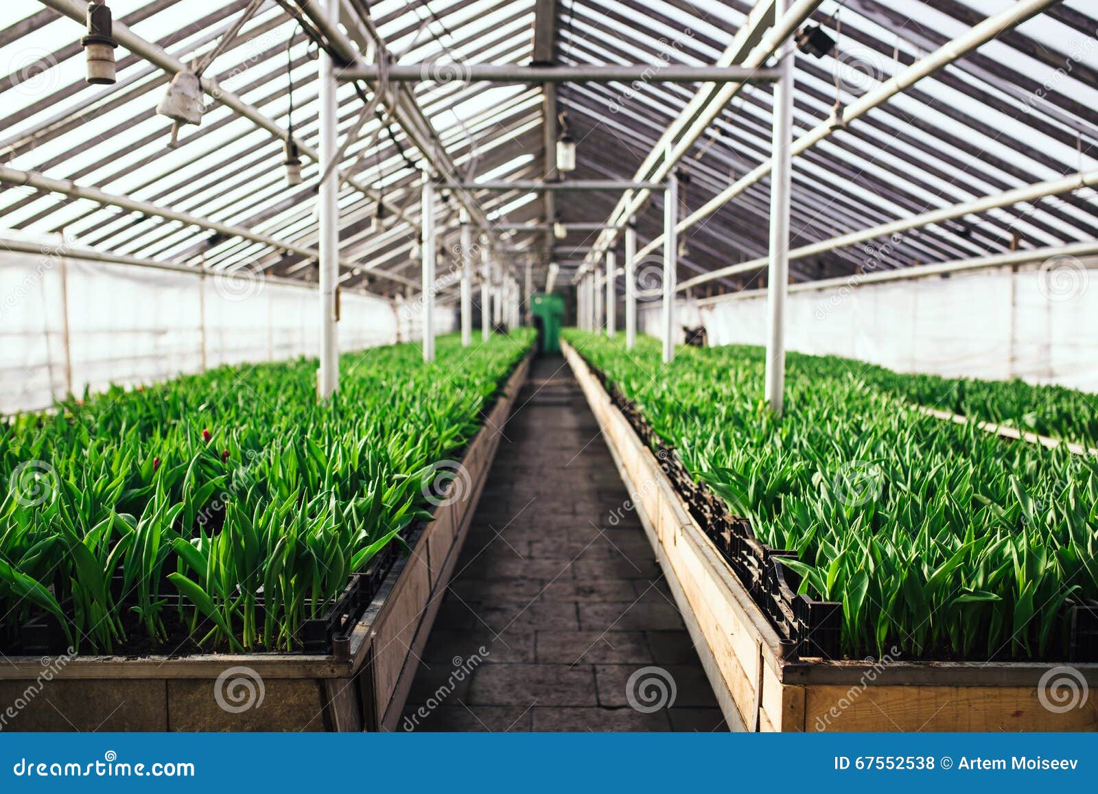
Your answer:
[[[512,373],[461,460],[470,488],[436,507],[345,652],[13,657],[0,666],[0,729],[392,730],[530,359]]]

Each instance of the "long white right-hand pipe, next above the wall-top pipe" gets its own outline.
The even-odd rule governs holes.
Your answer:
[[[892,223],[884,223],[879,226],[851,232],[850,234],[844,234],[839,237],[825,239],[819,243],[813,243],[811,245],[802,246],[800,248],[794,248],[789,251],[789,259],[804,259],[805,257],[826,254],[837,248],[856,245],[858,243],[866,243],[878,237],[887,237],[901,232],[909,232],[912,228],[919,228],[920,226],[942,223],[944,221],[964,217],[965,215],[975,215],[982,212],[988,212],[989,210],[1011,206],[1013,204],[1029,203],[1050,195],[1061,195],[1063,193],[1069,193],[1074,190],[1093,188],[1095,186],[1098,186],[1098,170],[1085,171],[1071,177],[1064,177],[1063,179],[1053,179],[1047,182],[1038,182],[1037,184],[1030,184],[1024,188],[1008,190],[1005,193],[985,195],[981,199],[976,199],[975,201],[966,201],[961,204],[943,206],[940,210],[932,210],[920,215],[912,215],[911,217],[893,221]],[[769,257],[760,257],[758,259],[751,259],[738,265],[730,265],[725,268],[718,268],[717,270],[710,270],[707,273],[702,273],[701,276],[695,276],[692,279],[683,281],[679,284],[679,290],[682,291],[691,287],[696,287],[697,284],[703,284],[707,281],[713,281],[728,276],[736,276],[737,273],[759,270],[766,267],[769,261]]]

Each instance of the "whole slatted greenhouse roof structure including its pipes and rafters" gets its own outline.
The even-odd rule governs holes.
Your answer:
[[[0,13],[0,224],[10,230],[64,232],[108,259],[248,264],[315,281],[324,48],[337,70],[372,75],[341,75],[337,91],[345,288],[419,289],[424,168],[446,197],[444,243],[457,244],[468,213],[538,283],[551,262],[562,280],[592,269],[630,219],[641,255],[663,233],[658,190],[562,198],[523,187],[561,176],[676,174],[681,289],[744,289],[764,270],[773,86],[692,80],[690,69],[765,70],[783,41],[772,0],[343,0],[337,25],[334,4],[316,0],[109,4],[117,79],[105,86],[85,80],[86,2],[21,0]],[[794,281],[859,272],[874,250],[865,244],[886,243],[879,267],[899,269],[1098,236],[1091,3],[798,1],[781,22],[804,34]],[[624,68],[618,79],[610,67]],[[200,74],[205,108],[173,144],[157,105],[187,70]],[[565,133],[578,161],[561,175],[553,148]],[[300,184],[283,176],[288,137]],[[455,187],[490,180],[522,183]]]

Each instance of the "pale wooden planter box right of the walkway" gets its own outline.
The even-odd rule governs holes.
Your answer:
[[[575,349],[563,347],[732,729],[1098,729],[1098,691],[1088,692],[1098,687],[1098,664],[785,659],[787,644],[684,507],[656,456]],[[1074,681],[1074,707],[1043,705],[1062,705],[1049,696],[1057,681]]]

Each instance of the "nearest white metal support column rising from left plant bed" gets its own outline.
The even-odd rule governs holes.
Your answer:
[[[338,21],[339,0],[325,0],[328,15]],[[336,101],[335,63],[320,54],[321,171],[336,157],[339,107]],[[339,343],[336,336],[336,289],[339,284],[339,180],[326,179],[316,197],[320,210],[321,367],[316,399],[326,402],[339,389]]]

